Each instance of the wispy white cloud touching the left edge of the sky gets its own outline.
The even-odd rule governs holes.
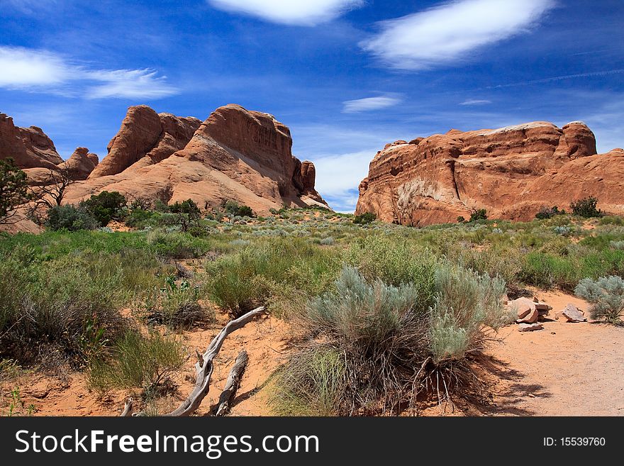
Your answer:
[[[48,50],[0,46],[0,87],[87,99],[158,99],[178,94],[155,70],[100,70]]]

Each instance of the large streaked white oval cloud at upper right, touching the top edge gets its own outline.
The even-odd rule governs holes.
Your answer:
[[[537,26],[555,0],[459,0],[379,23],[360,46],[390,67],[421,70],[464,60],[470,52]]]

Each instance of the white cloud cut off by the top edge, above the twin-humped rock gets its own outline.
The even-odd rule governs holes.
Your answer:
[[[363,0],[208,0],[215,8],[258,16],[272,23],[314,26],[330,21]]]

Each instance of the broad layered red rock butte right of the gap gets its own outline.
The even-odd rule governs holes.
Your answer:
[[[527,221],[542,206],[569,209],[586,196],[624,213],[623,177],[624,152],[596,155],[594,133],[580,121],[451,130],[386,145],[360,183],[356,213],[425,226],[469,218],[477,208],[491,218]]]

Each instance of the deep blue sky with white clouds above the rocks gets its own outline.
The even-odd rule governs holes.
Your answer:
[[[377,150],[582,120],[624,145],[621,0],[0,0],[0,111],[103,157],[130,105],[236,103],[291,128],[351,211]]]

